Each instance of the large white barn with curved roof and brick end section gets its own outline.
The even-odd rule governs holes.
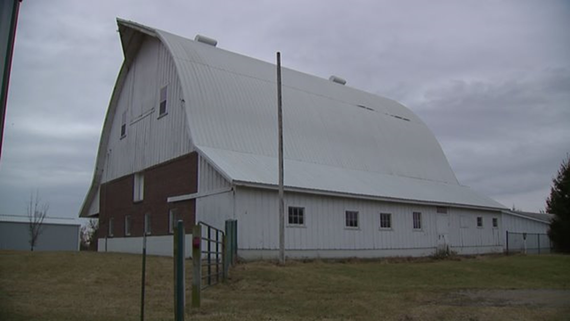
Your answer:
[[[187,231],[231,218],[238,255],[276,257],[275,65],[117,23],[125,60],[80,212],[99,218],[99,249],[133,251],[144,230],[168,246],[175,218]],[[503,251],[506,208],[459,184],[412,111],[338,78],[282,79],[287,256]]]

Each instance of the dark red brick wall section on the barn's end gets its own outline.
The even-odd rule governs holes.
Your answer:
[[[144,197],[133,201],[135,175],[101,184],[99,199],[99,237],[108,232],[109,218],[113,218],[113,237],[124,237],[125,216],[131,215],[131,235],[142,236],[144,215],[150,214],[152,235],[168,235],[168,213],[177,208],[178,217],[184,220],[187,233],[192,231],[196,217],[196,200],[167,203],[166,198],[198,191],[198,154],[196,152],[146,168]]]

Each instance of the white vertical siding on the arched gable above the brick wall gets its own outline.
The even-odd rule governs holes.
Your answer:
[[[158,118],[160,89],[168,85],[167,112]],[[120,139],[127,111],[126,137]],[[112,120],[102,182],[141,171],[192,151],[176,67],[156,38],[146,38],[128,70]]]

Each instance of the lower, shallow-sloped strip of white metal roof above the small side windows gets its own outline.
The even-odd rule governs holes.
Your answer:
[[[217,164],[219,170],[234,180],[271,185],[278,183],[278,176],[275,175],[278,162],[274,157],[197,147],[206,158]],[[400,200],[504,208],[502,204],[458,184],[324,166],[291,159],[285,159],[284,162],[284,185],[307,190],[382,196]]]

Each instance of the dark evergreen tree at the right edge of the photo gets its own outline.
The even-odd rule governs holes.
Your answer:
[[[554,214],[548,236],[557,251],[570,252],[570,154],[552,180],[546,211]]]

